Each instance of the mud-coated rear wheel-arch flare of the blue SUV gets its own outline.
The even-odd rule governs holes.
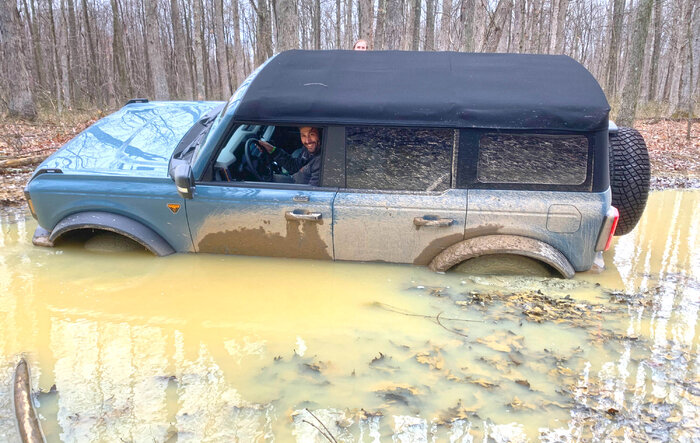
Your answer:
[[[558,249],[540,240],[519,235],[484,235],[463,240],[436,255],[428,267],[435,272],[445,272],[465,260],[491,254],[514,254],[534,258],[548,264],[564,278],[572,278],[576,273],[569,260]]]

